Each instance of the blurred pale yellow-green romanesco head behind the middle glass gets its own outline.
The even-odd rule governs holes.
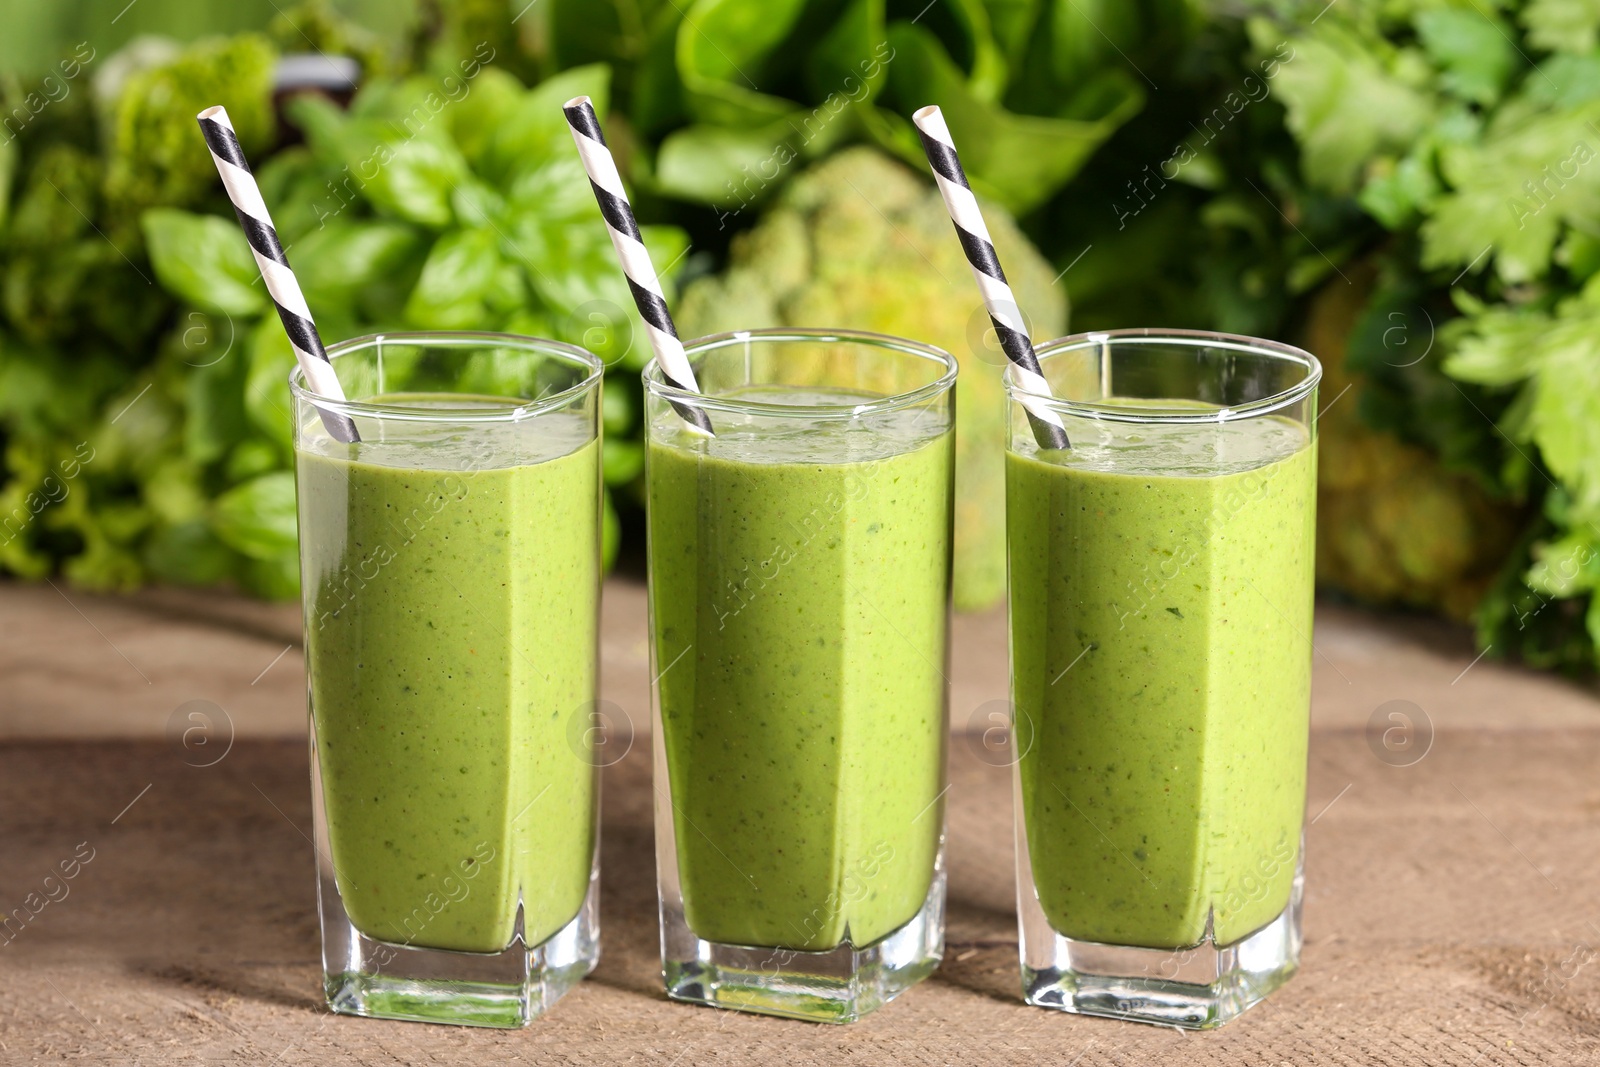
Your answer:
[[[984,205],[1006,278],[1035,339],[1066,331],[1054,270],[1000,208]],[[955,442],[957,608],[1005,595],[1005,355],[931,179],[874,149],[795,178],[734,238],[728,269],[683,294],[685,338],[765,326],[870,330],[960,362]]]

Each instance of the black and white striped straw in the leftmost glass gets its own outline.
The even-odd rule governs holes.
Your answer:
[[[267,296],[272,298],[272,304],[278,309],[283,333],[290,336],[290,344],[294,347],[294,358],[299,362],[301,373],[306,374],[306,384],[318,397],[344,400],[344,387],[339,386],[339,376],[333,373],[328,352],[322,347],[322,338],[317,336],[317,325],[310,320],[306,296],[299,291],[294,272],[290,270],[290,261],[283,254],[283,243],[278,242],[278,232],[272,229],[272,216],[267,214],[267,205],[261,198],[256,176],[250,171],[250,162],[238,147],[238,138],[234,134],[234,123],[227,118],[227,109],[221,106],[206,107],[197,118],[200,120],[200,133],[205,134],[205,144],[211,149],[211,162],[216,163],[216,173],[222,176],[222,187],[227,189],[227,198],[234,202],[234,214],[238,216],[238,224],[245,229],[245,240],[250,242],[256,267],[261,269],[261,280],[267,285]],[[344,414],[328,410],[318,410],[318,414],[322,414],[322,424],[328,427],[328,434],[334,440],[360,440],[360,435],[355,432],[355,422]]]

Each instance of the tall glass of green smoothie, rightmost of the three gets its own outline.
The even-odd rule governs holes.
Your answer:
[[[1299,349],[1118,331],[1008,381],[1027,1001],[1208,1029],[1301,949],[1317,381]]]

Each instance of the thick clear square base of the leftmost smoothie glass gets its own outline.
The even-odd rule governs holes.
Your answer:
[[[538,945],[517,939],[504,952],[448,952],[373,941],[344,912],[333,878],[322,891],[322,984],[328,1006],[346,1016],[525,1027],[600,961],[600,880],[589,878],[582,907]]]

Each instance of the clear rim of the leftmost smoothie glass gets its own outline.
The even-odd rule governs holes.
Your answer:
[[[605,374],[605,362],[576,344],[552,341],[549,338],[531,338],[520,333],[494,333],[488,330],[397,330],[386,333],[366,333],[358,338],[347,338],[328,346],[328,362],[341,355],[382,347],[386,342],[406,346],[427,346],[435,349],[522,349],[523,352],[542,352],[560,355],[587,366],[589,373],[582,381],[568,386],[562,392],[549,397],[502,397],[502,400],[520,402],[506,408],[416,408],[400,403],[371,403],[366,400],[339,400],[314,392],[306,384],[306,371],[299,362],[290,370],[290,394],[315,406],[318,411],[333,411],[344,416],[362,416],[371,419],[390,419],[408,422],[522,422],[547,411],[566,406],[594,389]],[[443,394],[450,395],[450,394]]]

